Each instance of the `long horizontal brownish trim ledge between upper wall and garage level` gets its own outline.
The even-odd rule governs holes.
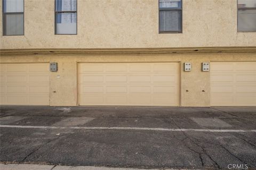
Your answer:
[[[1,56],[35,55],[177,55],[177,54],[256,54],[253,47],[187,47],[187,48],[27,48],[0,49]]]

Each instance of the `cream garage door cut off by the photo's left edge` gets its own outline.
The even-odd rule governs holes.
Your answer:
[[[49,105],[49,64],[1,64],[1,105]]]

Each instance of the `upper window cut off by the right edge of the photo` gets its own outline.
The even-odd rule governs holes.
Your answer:
[[[256,31],[256,0],[237,1],[237,30],[239,32]]]

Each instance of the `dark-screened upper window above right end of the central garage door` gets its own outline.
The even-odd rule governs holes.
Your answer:
[[[159,32],[182,32],[181,0],[159,0]]]

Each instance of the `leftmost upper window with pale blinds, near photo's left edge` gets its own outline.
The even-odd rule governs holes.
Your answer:
[[[3,0],[3,35],[24,35],[23,0]]]

